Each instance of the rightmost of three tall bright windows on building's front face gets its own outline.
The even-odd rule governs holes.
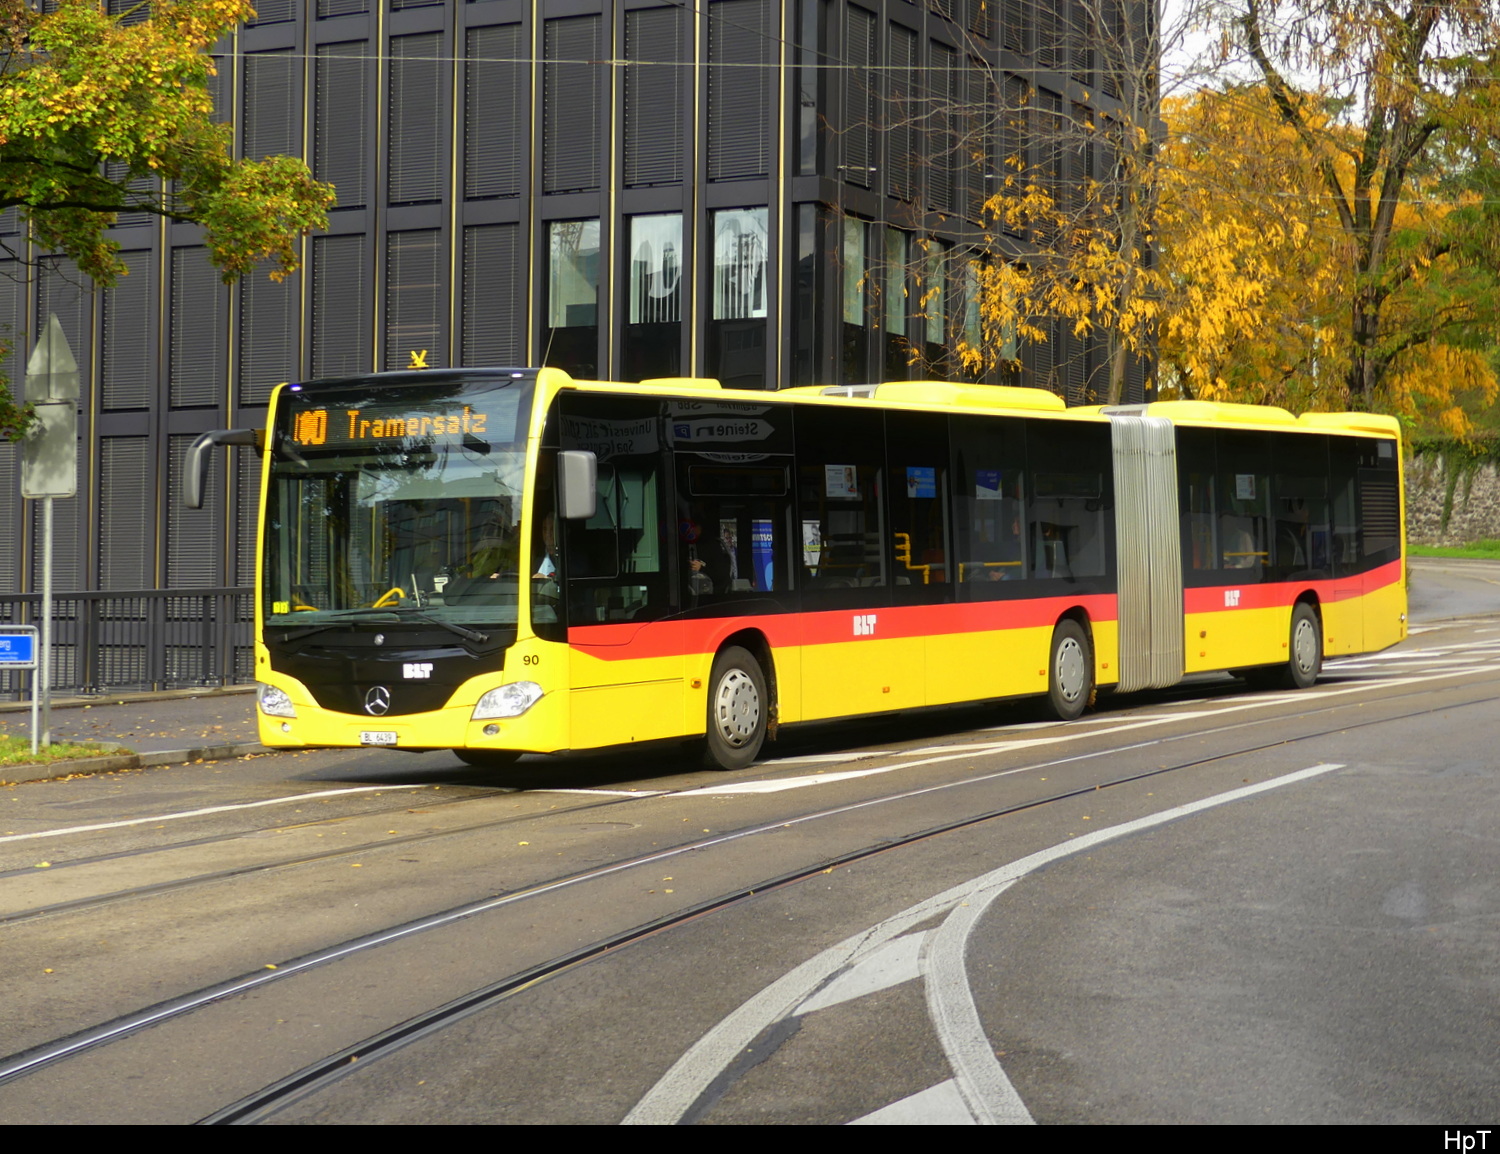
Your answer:
[[[714,311],[708,321],[708,374],[734,389],[765,387],[766,210],[716,212]]]

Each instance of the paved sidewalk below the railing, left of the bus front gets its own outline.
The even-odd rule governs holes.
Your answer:
[[[254,686],[54,698],[54,741],[114,743],[130,753],[46,765],[0,765],[0,782],[39,782],[69,773],[171,765],[200,758],[264,753],[255,732]],[[0,702],[0,737],[32,737],[30,702]]]

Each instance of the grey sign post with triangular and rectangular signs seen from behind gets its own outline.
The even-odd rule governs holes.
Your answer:
[[[26,362],[26,399],[38,425],[22,443],[21,497],[42,501],[42,638],[32,677],[32,750],[52,744],[52,498],[78,492],[78,362],[57,315]],[[38,725],[40,701],[40,725]]]

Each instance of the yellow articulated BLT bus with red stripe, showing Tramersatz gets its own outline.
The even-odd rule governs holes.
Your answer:
[[[282,386],[189,501],[214,443],[264,452],[267,746],[738,768],[780,725],[1310,686],[1406,636],[1389,417],[452,369]]]

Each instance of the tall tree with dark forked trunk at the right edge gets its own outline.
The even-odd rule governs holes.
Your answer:
[[[1494,0],[1230,0],[1230,30],[1336,221],[1347,299],[1326,360],[1356,408],[1422,365],[1474,368],[1500,300]]]

